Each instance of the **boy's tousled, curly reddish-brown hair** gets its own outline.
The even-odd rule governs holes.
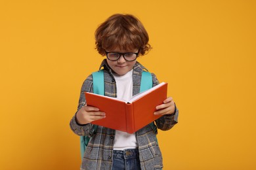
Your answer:
[[[114,14],[100,24],[95,31],[95,44],[98,53],[105,50],[140,50],[143,56],[152,47],[148,44],[148,33],[142,23],[131,14]]]

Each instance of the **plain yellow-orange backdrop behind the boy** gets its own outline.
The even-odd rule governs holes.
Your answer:
[[[164,169],[256,169],[255,1],[0,1],[0,169],[79,169],[69,122],[102,60],[94,33],[137,16],[138,60],[169,83],[179,124],[160,131]]]

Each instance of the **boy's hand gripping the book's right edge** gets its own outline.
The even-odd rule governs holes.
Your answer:
[[[165,115],[165,114],[173,114],[174,112],[175,112],[175,104],[173,101],[173,97],[167,97],[167,99],[163,101],[163,104],[158,105],[156,107],[156,112],[154,112],[154,114]]]

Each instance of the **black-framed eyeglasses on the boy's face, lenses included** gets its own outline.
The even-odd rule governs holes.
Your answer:
[[[110,61],[117,61],[121,56],[123,56],[126,61],[135,61],[139,56],[139,52],[106,52],[106,56]]]

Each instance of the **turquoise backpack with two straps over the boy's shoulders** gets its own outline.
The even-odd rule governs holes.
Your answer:
[[[93,74],[93,93],[104,95],[104,71],[96,71]],[[140,82],[140,93],[144,92],[153,86],[152,75],[149,72],[143,71]],[[90,131],[90,136],[93,136],[96,133],[97,125],[93,125],[93,129]],[[154,122],[150,123],[150,127],[154,130],[155,133],[158,133],[158,128]],[[83,160],[83,155],[85,149],[90,141],[89,136],[80,136],[80,152],[81,159]]]

